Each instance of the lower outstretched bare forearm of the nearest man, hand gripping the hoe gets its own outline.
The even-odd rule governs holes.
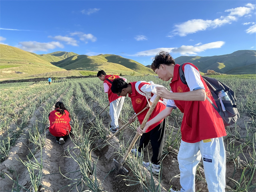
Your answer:
[[[139,134],[143,134],[146,132],[146,130],[153,124],[159,122],[160,120],[166,118],[167,116],[169,116],[172,112],[172,110],[174,109],[174,107],[166,107],[164,110],[162,110],[157,116],[155,116],[153,119],[151,119],[150,121],[146,122],[145,127],[143,128],[143,130],[140,128],[140,126],[137,128],[137,131]]]

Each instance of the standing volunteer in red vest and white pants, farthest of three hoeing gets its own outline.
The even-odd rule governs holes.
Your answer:
[[[98,71],[97,77],[103,81],[104,92],[108,93],[109,115],[111,118],[110,131],[115,133],[118,131],[119,128],[118,118],[124,104],[124,97],[117,96],[116,94],[112,93],[111,85],[113,80],[116,78],[122,78],[125,81],[126,78],[120,77],[118,75],[107,75],[104,70]]]

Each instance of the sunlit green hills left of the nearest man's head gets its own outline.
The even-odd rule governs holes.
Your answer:
[[[142,75],[153,71],[144,65],[118,55],[87,56],[74,52],[35,54],[16,47],[0,44],[0,80],[46,76],[79,76],[89,70],[95,74]],[[68,70],[68,71],[67,71]],[[83,70],[79,73],[78,70]]]

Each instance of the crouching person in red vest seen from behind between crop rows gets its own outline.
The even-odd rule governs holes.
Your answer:
[[[64,144],[71,130],[70,114],[60,101],[56,102],[55,110],[49,113],[50,133],[56,137],[56,142]]]

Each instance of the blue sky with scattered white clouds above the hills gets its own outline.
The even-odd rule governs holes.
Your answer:
[[[1,0],[0,43],[36,54],[116,54],[144,65],[166,50],[214,56],[256,49],[256,1]]]

